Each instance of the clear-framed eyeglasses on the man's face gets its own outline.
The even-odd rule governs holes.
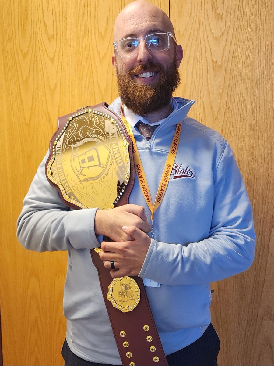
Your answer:
[[[140,40],[145,41],[146,45],[152,52],[166,51],[170,48],[170,38],[176,43],[176,40],[171,32],[168,33],[153,33],[145,37],[128,37],[114,42],[114,48],[117,50],[120,57],[132,57],[137,53],[140,45]]]

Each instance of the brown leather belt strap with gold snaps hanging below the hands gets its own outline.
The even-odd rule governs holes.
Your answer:
[[[132,277],[141,292],[138,306],[129,313],[122,313],[107,300],[109,285],[113,281],[110,271],[104,267],[98,253],[93,249],[90,252],[98,270],[104,302],[123,366],[168,366],[142,279]]]

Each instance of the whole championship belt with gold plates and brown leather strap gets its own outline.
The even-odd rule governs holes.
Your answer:
[[[134,184],[133,143],[104,102],[58,118],[45,172],[73,209],[125,205]],[[140,277],[113,279],[91,249],[104,302],[124,366],[168,366]],[[107,346],[106,346],[107,347]]]

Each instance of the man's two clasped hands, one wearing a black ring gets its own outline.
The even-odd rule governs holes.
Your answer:
[[[151,226],[146,221],[144,208],[124,205],[112,210],[97,210],[95,216],[96,235],[105,235],[114,242],[102,242],[100,258],[110,269],[111,277],[137,276],[144,263],[151,238],[146,232]],[[111,269],[114,261],[115,269]]]

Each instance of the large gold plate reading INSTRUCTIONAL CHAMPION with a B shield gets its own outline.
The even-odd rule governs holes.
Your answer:
[[[114,208],[130,176],[129,143],[107,113],[86,109],[69,116],[53,141],[48,179],[79,208]]]

